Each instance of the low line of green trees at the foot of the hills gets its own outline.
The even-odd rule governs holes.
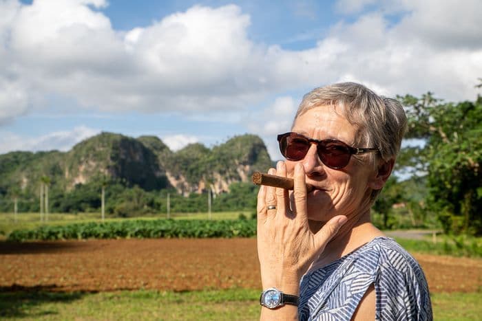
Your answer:
[[[166,213],[169,197],[170,212],[207,212],[207,193],[191,193],[184,197],[174,189],[143,190],[138,186],[125,186],[121,181],[94,181],[77,184],[66,192],[52,188],[49,193],[49,212],[77,213],[100,212],[101,189],[105,186],[105,213],[114,217],[136,217],[143,214]],[[229,192],[211,195],[213,212],[253,210],[256,204],[258,187],[250,183],[233,183]],[[169,195],[169,196],[168,196]],[[0,212],[13,212],[14,199],[3,198]],[[18,212],[39,212],[39,197],[33,194],[17,195]]]

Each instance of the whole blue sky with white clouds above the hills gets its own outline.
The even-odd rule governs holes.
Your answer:
[[[474,100],[480,16],[480,0],[0,0],[0,153],[252,133],[280,159],[315,87]]]

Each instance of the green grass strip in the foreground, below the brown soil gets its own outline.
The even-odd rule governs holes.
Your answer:
[[[13,320],[258,320],[259,290],[0,293]],[[480,320],[482,293],[432,294],[434,320]]]

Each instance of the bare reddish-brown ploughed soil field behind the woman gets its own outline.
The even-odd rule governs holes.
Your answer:
[[[430,291],[479,291],[482,261],[415,254]],[[259,289],[255,239],[0,243],[0,291]]]

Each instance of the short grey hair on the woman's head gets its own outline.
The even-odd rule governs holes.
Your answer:
[[[400,102],[378,96],[364,85],[340,82],[306,93],[296,112],[295,121],[306,111],[324,105],[342,107],[342,115],[350,124],[358,126],[362,135],[357,139],[357,144],[366,144],[358,147],[378,148],[379,157],[385,161],[397,157],[407,128],[407,118]],[[373,191],[372,200],[379,192]]]

